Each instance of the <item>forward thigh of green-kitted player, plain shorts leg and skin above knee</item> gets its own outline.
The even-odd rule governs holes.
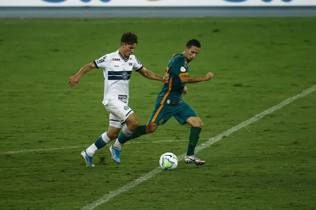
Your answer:
[[[185,102],[182,102],[182,104],[178,105],[178,111],[177,113],[174,115],[174,118],[181,124],[181,125],[185,125],[185,124],[189,124],[191,125],[191,119],[195,119],[198,118],[197,113],[193,110],[193,108],[188,105]],[[194,125],[196,125],[196,123],[193,123]],[[192,126],[192,125],[191,125]],[[194,127],[198,127],[198,126],[194,126]]]

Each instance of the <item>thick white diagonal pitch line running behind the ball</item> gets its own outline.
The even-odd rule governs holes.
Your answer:
[[[316,85],[314,85],[314,86],[311,87],[311,88],[308,88],[308,89],[304,90],[304,91],[303,91],[302,93],[300,93],[300,94],[297,94],[297,95],[295,95],[295,96],[293,96],[293,97],[291,97],[291,98],[288,98],[288,99],[282,101],[282,102],[279,103],[278,105],[275,105],[275,106],[271,107],[270,109],[267,109],[267,110],[261,112],[261,113],[258,114],[258,115],[253,116],[253,117],[250,118],[249,120],[246,120],[246,121],[240,123],[239,125],[237,125],[237,126],[235,126],[235,127],[233,127],[233,128],[230,128],[229,130],[227,130],[227,131],[225,131],[225,132],[223,132],[223,133],[221,133],[221,134],[219,134],[219,135],[217,135],[217,136],[215,136],[215,137],[213,137],[213,138],[210,138],[210,139],[209,139],[207,142],[205,142],[204,144],[201,144],[201,145],[197,146],[197,147],[195,148],[195,152],[197,153],[198,151],[203,150],[204,148],[206,148],[206,147],[212,145],[213,143],[215,143],[216,141],[221,140],[221,139],[223,138],[223,136],[228,136],[229,134],[231,134],[231,133],[233,133],[233,132],[235,132],[235,131],[240,130],[241,128],[243,128],[243,127],[249,125],[249,124],[252,123],[252,122],[256,122],[257,120],[261,119],[262,117],[264,117],[264,116],[266,116],[266,115],[268,115],[268,114],[270,114],[270,113],[272,113],[272,112],[274,112],[274,111],[276,111],[276,110],[282,108],[283,106],[285,106],[285,105],[291,103],[292,101],[294,101],[294,100],[296,100],[296,99],[298,99],[298,98],[301,98],[301,97],[303,97],[303,96],[306,96],[306,95],[312,93],[312,92],[315,91],[315,90],[316,90]],[[182,159],[184,158],[184,156],[185,156],[185,154],[179,156],[179,161],[182,160]],[[105,203],[106,201],[110,200],[112,197],[114,197],[114,196],[116,196],[116,195],[118,195],[118,194],[120,194],[120,193],[122,193],[122,192],[124,192],[124,191],[127,191],[127,190],[129,190],[129,189],[131,189],[131,188],[133,188],[133,187],[135,187],[135,186],[137,186],[138,184],[142,183],[143,181],[146,181],[147,179],[150,179],[152,176],[156,175],[157,173],[159,173],[159,172],[161,172],[161,171],[162,171],[161,167],[157,167],[157,168],[155,168],[154,170],[152,170],[152,171],[146,173],[144,176],[142,176],[142,177],[140,177],[140,178],[138,178],[138,179],[135,179],[135,180],[129,182],[129,183],[126,184],[125,186],[120,187],[120,188],[117,189],[117,190],[111,191],[111,192],[109,192],[108,194],[105,194],[105,195],[102,196],[100,199],[94,201],[94,202],[91,203],[91,204],[86,205],[86,206],[83,207],[81,210],[91,210],[91,209],[93,209],[93,208],[99,206],[100,204]]]

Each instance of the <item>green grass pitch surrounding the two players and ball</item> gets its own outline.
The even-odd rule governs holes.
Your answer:
[[[199,144],[316,84],[316,18],[0,20],[0,209],[81,209],[158,167],[162,153],[186,152],[190,128],[171,119],[125,145],[120,165],[108,146],[94,168],[79,158],[108,127],[104,78],[94,69],[78,88],[68,78],[116,51],[125,31],[159,75],[200,40],[190,74],[215,76],[184,97],[204,122]],[[141,124],[161,87],[132,74]],[[204,166],[181,161],[95,209],[316,209],[315,136],[313,92],[198,152]]]

